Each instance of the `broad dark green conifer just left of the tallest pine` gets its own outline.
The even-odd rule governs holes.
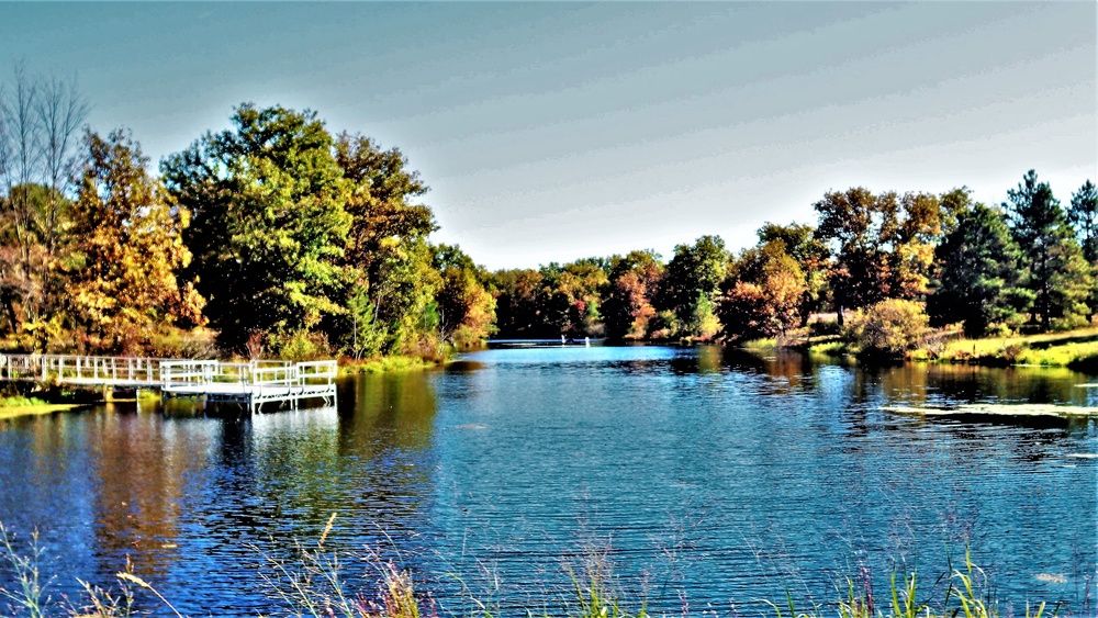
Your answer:
[[[939,283],[927,300],[933,326],[963,323],[967,337],[982,337],[994,324],[1008,324],[1026,311],[1033,293],[1021,286],[1020,250],[1002,213],[974,204],[934,251]]]

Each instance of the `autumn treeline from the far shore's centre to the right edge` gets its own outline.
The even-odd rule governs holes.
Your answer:
[[[816,225],[768,223],[731,254],[719,236],[652,251],[493,274],[501,336],[773,337],[811,315],[897,315],[968,336],[1067,329],[1098,308],[1098,192],[1067,209],[1034,171],[999,206],[864,188],[826,193]]]

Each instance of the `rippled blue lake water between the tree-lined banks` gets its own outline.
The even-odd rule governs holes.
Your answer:
[[[38,530],[55,599],[131,560],[189,616],[278,607],[268,561],[315,547],[332,514],[325,547],[347,552],[354,585],[392,559],[444,615],[553,614],[596,557],[627,608],[772,616],[760,599],[810,608],[848,576],[883,598],[893,571],[917,569],[929,592],[966,547],[1015,613],[1093,611],[1094,420],[884,409],[1098,405],[1087,381],[715,347],[492,349],[348,378],[333,408],[120,403],[0,422],[0,521],[16,547]]]

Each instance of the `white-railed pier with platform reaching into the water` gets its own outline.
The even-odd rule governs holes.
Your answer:
[[[307,400],[335,405],[336,361],[179,360],[70,355],[0,355],[0,381],[156,390],[170,397],[236,403],[257,412],[265,403],[292,407]]]

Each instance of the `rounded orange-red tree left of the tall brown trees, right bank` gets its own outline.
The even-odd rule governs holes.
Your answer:
[[[773,337],[802,321],[805,273],[782,240],[743,251],[721,289],[719,316],[730,337]]]

